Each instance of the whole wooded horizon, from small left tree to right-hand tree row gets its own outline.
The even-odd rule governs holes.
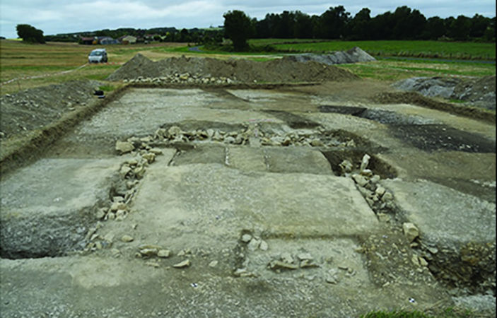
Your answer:
[[[299,38],[299,39],[341,39],[341,40],[479,40],[495,42],[496,18],[486,18],[475,14],[426,18],[417,9],[399,6],[395,11],[387,11],[371,17],[369,8],[363,8],[352,16],[344,6],[330,7],[321,15],[308,15],[300,11],[268,13],[264,19],[250,18],[242,11],[228,11],[224,14],[224,28],[182,29],[152,28],[98,30],[93,32],[47,35],[30,25],[18,25],[18,35],[23,40],[70,41],[77,42],[81,36],[122,35],[144,37],[158,35],[153,40],[161,42],[195,42],[198,44],[219,44],[223,37],[230,38],[246,46],[246,40],[253,38]],[[21,27],[21,28],[19,28]],[[28,28],[29,27],[29,28]],[[240,48],[240,47],[239,47]]]

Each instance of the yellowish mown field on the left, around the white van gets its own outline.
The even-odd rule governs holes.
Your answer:
[[[61,83],[76,78],[104,80],[138,52],[149,52],[158,46],[174,48],[185,45],[174,43],[108,45],[105,48],[110,64],[88,64],[88,54],[92,49],[100,48],[100,46],[62,42],[35,45],[13,40],[0,40],[1,93],[13,93],[25,88]],[[33,76],[40,77],[30,78]],[[19,80],[6,84],[7,81],[16,78]]]

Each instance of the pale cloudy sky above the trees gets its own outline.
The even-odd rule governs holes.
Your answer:
[[[223,13],[230,10],[261,20],[266,13],[285,10],[320,15],[339,5],[352,16],[365,7],[376,16],[403,5],[418,9],[426,18],[496,16],[495,0],[0,0],[0,35],[17,37],[16,25],[21,23],[45,35],[117,28],[209,28],[223,25]]]

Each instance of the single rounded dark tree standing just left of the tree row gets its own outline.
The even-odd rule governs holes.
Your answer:
[[[247,40],[255,33],[254,23],[243,12],[238,10],[224,13],[224,35],[233,41],[235,51],[247,48]]]

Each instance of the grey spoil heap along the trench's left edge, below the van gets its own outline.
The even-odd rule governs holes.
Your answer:
[[[69,81],[2,95],[1,139],[40,129],[62,117],[65,112],[86,105],[99,85],[97,81]]]

